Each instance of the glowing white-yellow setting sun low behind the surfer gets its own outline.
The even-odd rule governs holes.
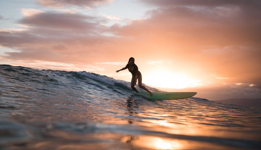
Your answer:
[[[142,80],[142,82],[148,86],[160,88],[182,89],[187,87],[200,86],[200,81],[193,80],[186,74],[173,73],[166,70],[150,72],[149,75],[144,77]]]

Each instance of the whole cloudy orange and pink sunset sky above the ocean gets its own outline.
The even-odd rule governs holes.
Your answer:
[[[261,98],[260,0],[0,0],[0,64]]]

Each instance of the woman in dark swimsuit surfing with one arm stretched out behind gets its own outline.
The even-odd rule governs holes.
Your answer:
[[[135,90],[137,93],[139,93],[139,91],[134,87],[134,86],[137,84],[137,80],[138,80],[138,81],[139,81],[139,83],[138,83],[138,84],[139,84],[139,87],[142,88],[142,89],[144,89],[144,90],[146,90],[147,92],[149,92],[150,95],[152,96],[151,91],[149,91],[145,86],[142,85],[142,75],[141,75],[141,73],[139,72],[138,66],[134,63],[134,61],[135,61],[135,59],[134,59],[133,57],[131,57],[131,58],[129,59],[129,61],[128,61],[128,64],[127,64],[124,68],[122,68],[122,69],[120,69],[120,70],[117,70],[116,73],[128,68],[128,70],[129,70],[129,71],[131,72],[131,74],[132,74],[132,78],[131,78],[131,88],[132,88],[133,90]]]

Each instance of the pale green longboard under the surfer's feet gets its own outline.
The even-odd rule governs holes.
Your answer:
[[[136,94],[136,92],[132,92]],[[152,92],[152,96],[148,92],[139,92],[138,95],[142,95],[149,99],[186,99],[189,97],[193,97],[197,94],[197,92]]]

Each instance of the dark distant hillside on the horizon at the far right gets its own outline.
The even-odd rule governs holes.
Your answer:
[[[261,107],[261,99],[223,99],[218,101],[226,104]]]

